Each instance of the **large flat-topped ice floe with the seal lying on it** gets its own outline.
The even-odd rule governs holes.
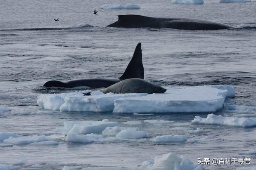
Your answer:
[[[37,103],[55,111],[115,112],[115,113],[191,113],[216,112],[228,97],[235,96],[229,85],[168,87],[162,94],[103,94],[83,92],[41,94]]]

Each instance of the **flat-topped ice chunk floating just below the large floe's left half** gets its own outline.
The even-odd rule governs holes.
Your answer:
[[[102,121],[88,120],[83,122],[64,122],[65,129],[70,129],[69,132],[78,134],[100,133],[106,127],[119,126],[118,122],[109,122],[107,119]]]

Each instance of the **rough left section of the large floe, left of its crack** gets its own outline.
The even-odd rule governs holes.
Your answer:
[[[84,96],[83,93],[86,92],[41,94],[38,96],[37,103],[44,109],[55,111],[111,112],[114,109],[115,99],[146,95],[92,92],[91,96]]]

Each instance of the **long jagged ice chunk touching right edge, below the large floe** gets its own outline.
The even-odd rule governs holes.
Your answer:
[[[234,118],[234,117],[224,117],[216,116],[214,114],[209,114],[207,118],[201,118],[200,116],[195,116],[192,120],[194,124],[211,124],[211,125],[229,125],[235,127],[256,127],[256,120],[253,118]]]

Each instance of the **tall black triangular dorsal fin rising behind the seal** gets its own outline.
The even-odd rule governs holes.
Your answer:
[[[125,80],[128,78],[142,78],[144,79],[144,67],[142,64],[142,50],[141,43],[138,43],[135,51],[133,53],[133,58],[126,67],[126,71],[119,78],[120,80]]]

